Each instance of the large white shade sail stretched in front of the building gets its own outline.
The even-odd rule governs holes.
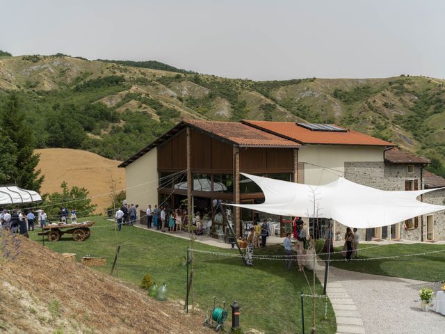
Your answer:
[[[280,216],[332,218],[350,228],[377,228],[445,209],[416,199],[437,189],[384,191],[343,177],[312,186],[242,174],[259,185],[266,200],[263,204],[233,205]]]

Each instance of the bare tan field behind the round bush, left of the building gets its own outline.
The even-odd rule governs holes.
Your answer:
[[[111,178],[116,189],[125,188],[125,169],[118,168],[120,161],[106,159],[97,154],[68,148],[45,148],[35,150],[40,154],[38,168],[44,174],[41,193],[61,191],[60,184],[88,189],[90,196],[99,196],[111,191]],[[104,212],[110,205],[109,195],[93,198],[97,204],[96,212]]]

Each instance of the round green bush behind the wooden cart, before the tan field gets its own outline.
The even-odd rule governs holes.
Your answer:
[[[57,216],[60,207],[67,209],[76,209],[78,216],[90,216],[95,210],[95,204],[91,204],[91,198],[88,198],[88,191],[85,188],[73,186],[71,190],[65,181],[60,184],[62,192],[54,192],[44,197],[44,207],[47,207],[48,216]]]

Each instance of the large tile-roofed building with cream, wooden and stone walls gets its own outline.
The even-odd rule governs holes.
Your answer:
[[[427,159],[397,150],[388,141],[337,125],[184,120],[120,167],[126,168],[129,202],[176,208],[191,196],[193,211],[211,218],[215,200],[251,204],[264,200],[256,184],[240,173],[314,185],[343,176],[383,190],[414,190],[423,187],[427,164]],[[283,218],[247,209],[227,213],[238,235],[243,232],[243,222]],[[413,218],[362,231],[362,235],[366,239],[419,239],[428,219],[431,221],[431,217]],[[223,230],[220,224],[220,219],[213,219],[214,232]],[[317,219],[309,226],[320,237],[327,221]],[[338,239],[345,228],[334,224]]]

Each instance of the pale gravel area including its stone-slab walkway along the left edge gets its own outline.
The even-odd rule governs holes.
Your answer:
[[[323,284],[324,262],[316,267]],[[443,334],[445,317],[419,308],[426,282],[371,275],[330,267],[327,295],[337,319],[337,334]],[[432,287],[439,290],[439,285]]]

